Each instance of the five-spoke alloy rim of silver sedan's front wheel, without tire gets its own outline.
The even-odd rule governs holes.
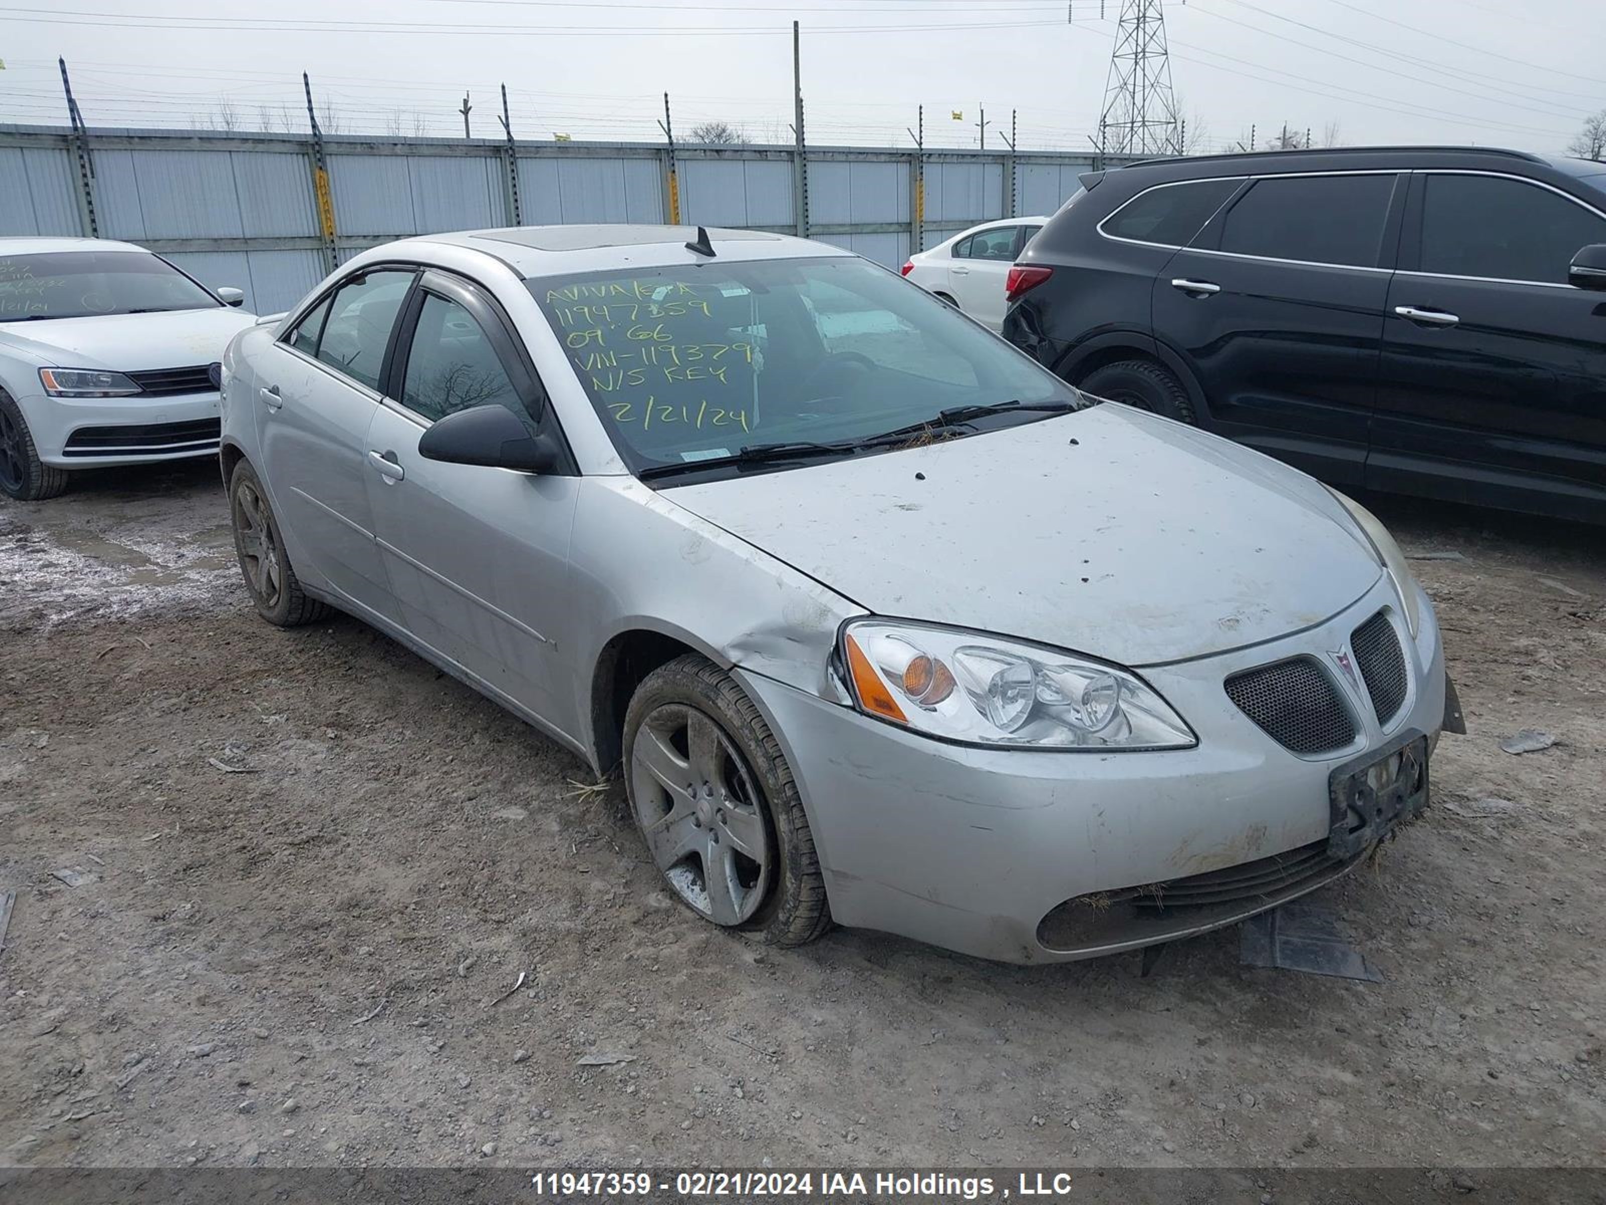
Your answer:
[[[769,892],[774,839],[753,776],[719,725],[663,704],[631,747],[631,800],[647,850],[695,913],[750,919]]]

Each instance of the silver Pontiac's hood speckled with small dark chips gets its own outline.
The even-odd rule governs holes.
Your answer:
[[[663,493],[867,611],[1134,667],[1320,623],[1383,572],[1310,477],[1115,403]]]

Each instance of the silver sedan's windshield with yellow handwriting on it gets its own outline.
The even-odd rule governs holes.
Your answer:
[[[996,336],[862,259],[713,259],[527,284],[638,474],[758,445],[850,445],[957,406],[1020,403],[976,419],[997,426],[1042,418],[1033,403],[1078,402]]]

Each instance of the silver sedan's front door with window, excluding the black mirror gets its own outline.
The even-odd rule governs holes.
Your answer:
[[[560,631],[580,477],[418,453],[430,423],[471,406],[506,406],[532,431],[552,421],[512,325],[479,286],[429,272],[403,317],[387,384],[363,476],[403,627],[573,739]]]

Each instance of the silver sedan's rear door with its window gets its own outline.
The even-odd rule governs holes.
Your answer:
[[[387,267],[349,276],[255,365],[262,477],[297,564],[384,619],[395,607],[374,545],[365,439],[414,275]]]

